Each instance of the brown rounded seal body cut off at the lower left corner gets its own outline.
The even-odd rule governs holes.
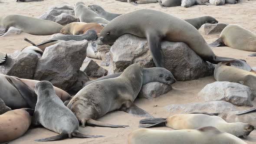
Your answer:
[[[0,115],[0,143],[21,137],[29,129],[34,110],[21,108]]]

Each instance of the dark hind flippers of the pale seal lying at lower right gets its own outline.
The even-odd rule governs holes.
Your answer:
[[[140,121],[139,128],[152,128],[166,126],[166,118],[146,118]]]

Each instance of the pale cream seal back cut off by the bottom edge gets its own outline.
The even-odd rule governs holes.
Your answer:
[[[246,144],[246,142],[214,127],[175,131],[142,128],[128,135],[128,144]]]

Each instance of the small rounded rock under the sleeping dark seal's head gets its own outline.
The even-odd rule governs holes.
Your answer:
[[[171,91],[171,85],[165,85],[161,82],[149,82],[146,85],[142,85],[141,91],[139,93],[140,98],[157,98],[160,95],[166,94]]]

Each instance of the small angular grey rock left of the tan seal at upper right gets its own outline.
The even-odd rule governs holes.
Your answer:
[[[215,24],[205,23],[205,24],[203,25],[204,33],[205,33],[206,35],[214,34],[214,33],[221,33],[222,30],[223,30],[227,25],[228,25],[228,24],[226,24],[226,23],[215,23]]]

